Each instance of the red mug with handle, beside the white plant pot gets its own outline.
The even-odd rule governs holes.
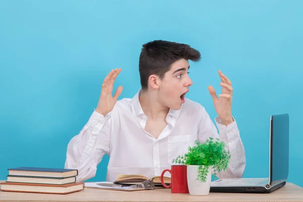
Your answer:
[[[167,186],[163,181],[164,173],[171,174],[171,184]],[[172,165],[171,169],[165,169],[161,174],[161,183],[165,188],[171,188],[172,193],[189,193],[187,185],[187,166]]]

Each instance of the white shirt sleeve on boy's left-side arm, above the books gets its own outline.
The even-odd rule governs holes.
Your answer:
[[[111,115],[104,117],[93,111],[80,133],[67,146],[66,169],[77,169],[77,182],[92,178],[97,165],[105,154],[109,154]]]

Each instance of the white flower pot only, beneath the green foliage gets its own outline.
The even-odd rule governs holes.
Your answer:
[[[206,178],[206,182],[197,180],[199,166],[187,166],[187,184],[190,195],[208,195],[211,188],[212,172],[211,167]]]

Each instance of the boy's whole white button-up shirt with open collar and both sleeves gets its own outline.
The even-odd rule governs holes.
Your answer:
[[[106,117],[93,111],[80,133],[71,139],[65,168],[78,169],[77,181],[94,177],[105,154],[110,157],[107,181],[115,181],[119,174],[159,176],[164,169],[170,169],[172,160],[184,155],[196,139],[201,142],[209,137],[220,137],[231,154],[228,169],[217,176],[242,177],[245,151],[235,120],[226,127],[216,117],[218,134],[205,108],[186,98],[180,110],[169,111],[166,127],[155,138],[144,130],[147,117],[139,103],[139,92],[133,98],[118,100]],[[165,176],[170,177],[170,173],[166,172]]]

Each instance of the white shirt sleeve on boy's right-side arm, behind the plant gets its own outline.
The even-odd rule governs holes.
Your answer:
[[[228,126],[225,126],[221,124],[219,117],[216,117],[215,122],[219,129],[218,134],[214,122],[203,106],[200,106],[199,117],[198,141],[204,142],[209,137],[220,138],[226,143],[225,149],[229,150],[231,155],[228,168],[218,173],[217,177],[241,178],[245,170],[246,160],[244,145],[240,138],[236,120],[233,118],[234,121]]]

